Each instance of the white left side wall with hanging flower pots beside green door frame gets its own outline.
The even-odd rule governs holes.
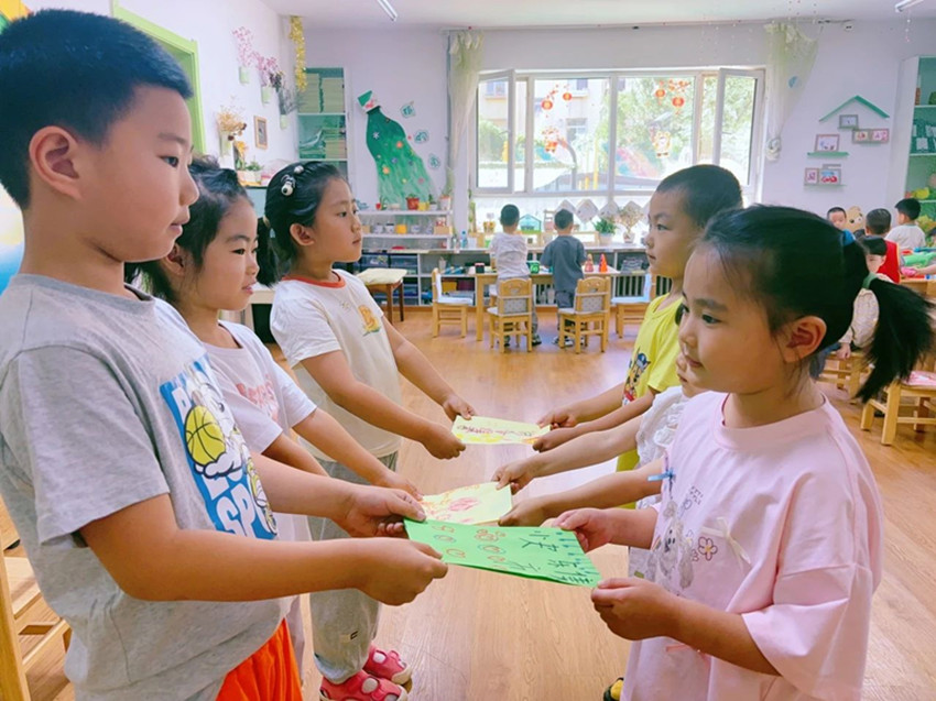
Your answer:
[[[215,125],[215,112],[229,105],[233,97],[243,108],[248,123],[243,140],[248,160],[257,158],[263,165],[274,160],[293,161],[296,154],[295,116],[291,116],[286,130],[280,129],[280,111],[275,96],[269,105],[260,99],[260,77],[251,72],[250,83],[241,85],[238,77],[237,48],[231,32],[243,25],[253,32],[253,47],[264,56],[275,55],[280,66],[292,70],[292,44],[289,42],[286,21],[260,0],[122,0],[120,6],[141,18],[198,43],[202,107],[205,124],[205,144],[208,153],[218,155],[220,142]],[[31,10],[68,8],[100,14],[111,13],[109,0],[32,0]],[[253,118],[266,119],[269,147],[255,145]],[[230,156],[222,160],[232,166]]]

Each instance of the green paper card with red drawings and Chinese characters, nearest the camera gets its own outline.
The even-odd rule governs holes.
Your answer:
[[[442,552],[443,562],[450,565],[579,587],[595,587],[601,581],[569,530],[406,519],[406,533],[411,540]]]

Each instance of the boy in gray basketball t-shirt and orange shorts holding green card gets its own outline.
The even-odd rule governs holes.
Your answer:
[[[124,286],[124,262],[167,255],[197,197],[168,54],[117,20],[42,11],[0,33],[0,183],[25,223],[0,296],[0,494],[74,631],[75,695],[208,701],[262,653],[263,681],[289,691],[275,701],[298,701],[280,596],[403,603],[445,566],[402,539],[276,543],[272,508],[357,535],[422,512],[251,454],[182,318]]]

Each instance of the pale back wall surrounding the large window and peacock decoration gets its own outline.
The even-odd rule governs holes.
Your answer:
[[[890,146],[853,146],[841,132],[845,185],[840,188],[806,188],[803,172],[819,166],[807,158],[816,134],[829,123],[818,120],[853,95],[861,95],[893,114],[896,75],[901,61],[918,54],[936,54],[932,37],[936,21],[914,20],[906,34],[902,20],[856,22],[851,31],[841,24],[804,23],[805,31],[819,37],[819,51],[802,100],[783,132],[784,153],[763,167],[763,201],[791,204],[825,212],[831,205],[860,205],[866,211],[882,205],[888,182]],[[349,89],[357,95],[374,89],[390,103],[388,114],[416,98],[418,120],[431,124],[432,151],[445,147],[436,139],[447,119],[446,46],[444,35],[425,29],[388,24],[385,30],[316,30],[306,25],[309,65],[342,65]],[[483,69],[608,69],[697,66],[763,66],[765,33],[760,23],[720,26],[654,26],[640,30],[497,30],[485,32]],[[377,86],[377,87],[376,87]],[[381,88],[381,86],[384,86]],[[889,127],[863,110],[863,127]],[[395,113],[399,117],[399,111]],[[373,161],[363,144],[363,114],[352,120],[352,176],[359,196],[373,201],[377,179]],[[837,132],[838,122],[831,132]],[[902,128],[905,125],[902,125]],[[428,152],[429,150],[424,150]],[[465,150],[462,149],[462,154]],[[469,160],[462,155],[457,167],[457,226],[464,226],[467,205]],[[440,184],[442,176],[437,182]]]

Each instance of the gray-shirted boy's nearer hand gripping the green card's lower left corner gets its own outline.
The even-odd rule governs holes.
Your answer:
[[[413,601],[448,571],[442,556],[422,543],[381,538],[356,546],[363,550],[366,559],[357,589],[391,606]]]

